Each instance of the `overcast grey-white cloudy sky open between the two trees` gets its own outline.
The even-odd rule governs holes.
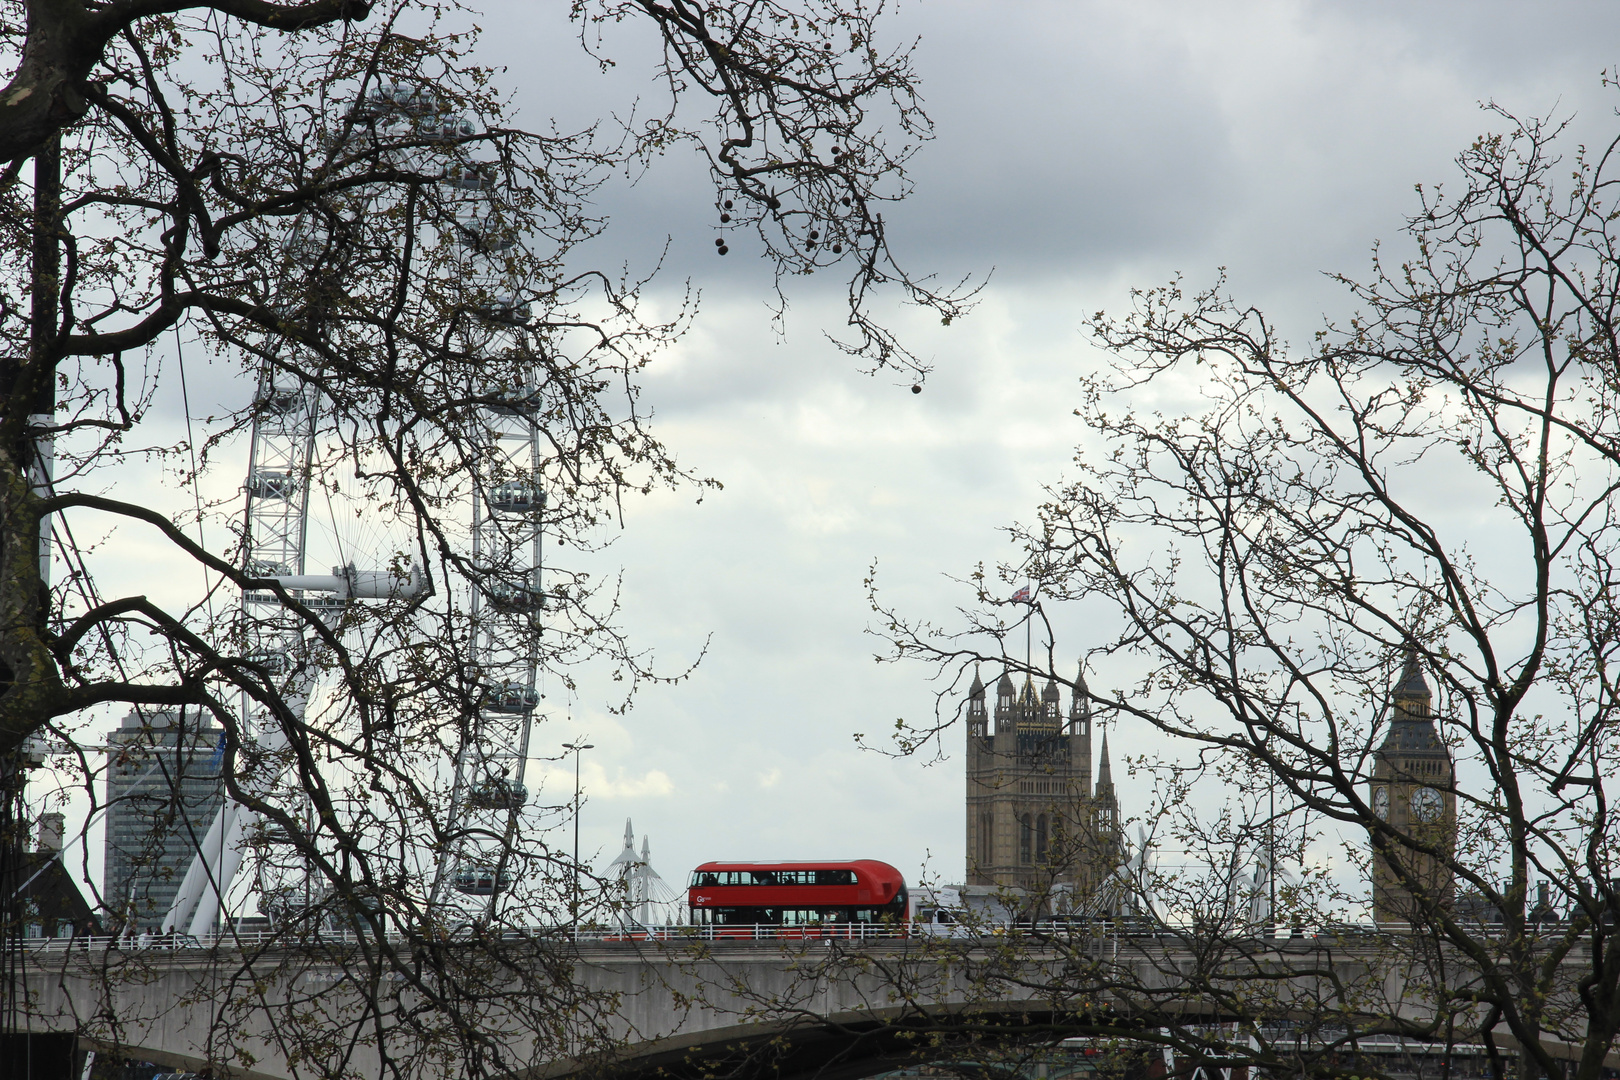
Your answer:
[[[614,29],[620,65],[604,76],[564,10],[486,3],[481,58],[505,65],[522,123],[567,126],[658,94],[646,26]],[[1011,557],[998,529],[1066,473],[1076,377],[1100,363],[1087,314],[1226,267],[1238,298],[1309,330],[1343,311],[1322,272],[1362,272],[1413,210],[1413,185],[1452,181],[1455,154],[1502,126],[1482,100],[1609,138],[1620,97],[1601,73],[1617,31],[1609,3],[906,3],[888,34],[920,39],[938,138],[915,160],[915,198],[888,214],[891,238],[915,269],[991,275],[949,329],[893,313],[935,364],[920,395],[828,345],[836,304],[813,293],[774,334],[765,264],[747,244],[713,254],[695,160],[604,191],[601,253],[635,269],[667,238],[654,303],[687,279],[701,290],[697,329],[650,369],[646,400],[680,460],[724,491],[629,504],[599,563],[624,568],[624,622],[667,670],[708,643],[697,672],[627,716],[603,709],[616,687],[548,698],[541,753],[595,743],[586,852],[606,863],[630,816],[672,884],[710,858],[823,857],[883,858],[909,878],[927,861],[959,881],[961,732],[933,764],[854,745],[933,709],[923,670],[873,662],[868,567],[893,604],[948,617],[967,599],[951,576]],[[1081,612],[1059,625],[1059,654],[1095,644]],[[1144,745],[1128,725],[1110,738],[1116,755]],[[572,767],[531,776],[548,769],[543,798],[564,801]],[[1128,816],[1145,805],[1128,779],[1121,801]]]

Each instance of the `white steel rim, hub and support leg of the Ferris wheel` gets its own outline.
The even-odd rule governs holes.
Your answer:
[[[522,282],[514,280],[504,257],[518,236],[507,215],[502,172],[497,162],[473,160],[468,152],[475,125],[449,113],[423,91],[392,84],[364,94],[355,117],[361,123],[355,125],[352,138],[369,141],[366,149],[379,160],[397,172],[437,180],[446,209],[439,240],[457,249],[457,282],[462,295],[471,298],[467,308],[475,316],[457,324],[467,355],[501,356],[507,361],[502,371],[525,372],[520,379],[475,385],[478,403],[467,410],[471,431],[463,437],[481,453],[471,484],[473,570],[468,575],[473,581],[468,597],[471,664],[481,688],[476,716],[463,725],[449,763],[454,779],[444,834],[455,837],[455,844],[436,858],[428,889],[429,905],[452,902],[452,897],[494,905],[514,879],[510,852],[528,801],[525,763],[539,703],[536,641],[544,610],[541,525],[546,497],[539,483],[539,390],[531,364],[522,363],[533,359],[539,347],[525,329],[528,308]],[[386,198],[384,185],[360,186],[337,204],[337,217],[306,212],[295,222],[277,285],[279,309],[293,311],[300,272],[313,262],[321,261],[327,274],[343,272],[340,233],[345,223],[360,225],[373,214],[379,198]],[[300,347],[284,342],[280,348],[285,355],[298,355]],[[330,573],[309,573],[311,471],[324,400],[316,381],[292,374],[319,371],[311,356],[300,359],[306,363],[277,363],[272,355],[261,368],[245,483],[241,565],[249,576],[274,581],[292,601],[340,633],[350,602],[418,597],[426,583],[420,567],[363,570],[355,560],[332,567]],[[523,623],[523,631],[512,633],[514,620]],[[280,683],[292,724],[303,724],[327,659],[308,633],[303,615],[277,591],[249,589],[241,597],[238,627],[245,659]],[[258,756],[272,763],[253,779],[253,793],[296,808],[300,793],[284,780],[284,722],[256,714],[246,693],[240,719],[240,730],[254,743]],[[245,852],[256,845],[262,850],[275,839],[253,811],[227,800],[199,844],[162,929],[209,933]]]

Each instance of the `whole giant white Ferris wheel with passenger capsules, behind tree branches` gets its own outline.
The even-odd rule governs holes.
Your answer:
[[[327,758],[334,748],[364,746],[348,763],[347,805],[360,808],[353,827],[364,827],[368,814],[381,821],[389,810],[364,806],[376,798],[361,784],[366,771],[371,792],[384,790],[384,772],[416,771],[394,785],[405,795],[395,790],[384,801],[433,818],[392,824],[399,850],[410,848],[400,868],[423,910],[494,910],[522,886],[526,866],[520,832],[531,819],[526,763],[548,609],[541,539],[549,405],[541,371],[546,342],[530,324],[520,261],[512,257],[523,240],[522,193],[510,162],[480,157],[488,142],[475,138],[478,126],[431,89],[376,84],[343,130],[335,152],[366,159],[374,175],[395,181],[355,185],[300,214],[282,241],[271,301],[305,329],[330,317],[311,314],[311,295],[321,291],[311,282],[335,280],[330,291],[342,295],[342,279],[364,274],[368,259],[397,267],[400,246],[431,251],[415,264],[429,270],[407,274],[431,279],[429,317],[446,327],[444,350],[457,363],[428,361],[416,377],[387,390],[431,392],[444,403],[433,418],[437,440],[424,452],[415,436],[371,415],[387,405],[352,393],[334,356],[311,347],[309,334],[266,348],[240,546],[240,567],[254,588],[241,593],[230,633],[245,664],[274,685],[275,708],[241,695],[246,764],[238,776],[249,798],[227,798],[201,837],[165,931],[207,933],[245,861],[261,907],[288,897],[309,902],[309,861],[319,857],[330,814],[329,805],[311,803],[308,771],[322,753],[305,738],[311,730],[326,735]],[[400,185],[399,176],[413,183]],[[399,348],[386,316],[368,325],[382,329],[368,345],[376,355]],[[426,381],[434,385],[421,385]],[[369,403],[356,410],[356,402]],[[355,436],[360,423],[373,421],[382,437]],[[402,466],[428,479],[402,494],[389,483]],[[455,518],[465,523],[460,529],[450,526]],[[424,520],[433,526],[424,529]],[[423,565],[434,546],[437,580]],[[318,565],[322,557],[335,565]],[[374,648],[382,636],[390,640],[386,651]],[[428,693],[402,706],[384,690],[368,698],[368,685]],[[356,690],[368,698],[360,721],[348,716]],[[402,708],[444,716],[426,738],[421,729],[407,738],[397,722]],[[411,763],[390,758],[390,745]],[[301,848],[287,836],[298,826]]]

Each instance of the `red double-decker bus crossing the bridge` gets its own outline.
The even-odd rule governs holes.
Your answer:
[[[703,863],[692,871],[693,926],[781,928],[776,936],[838,933],[836,926],[904,926],[901,871],[875,858],[849,863]]]

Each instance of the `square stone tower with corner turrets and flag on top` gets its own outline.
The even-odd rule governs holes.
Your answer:
[[[1055,895],[1082,907],[1121,860],[1119,800],[1102,737],[1092,785],[1084,674],[1068,717],[1055,682],[1040,696],[1003,674],[995,712],[974,675],[967,699],[967,884]]]

